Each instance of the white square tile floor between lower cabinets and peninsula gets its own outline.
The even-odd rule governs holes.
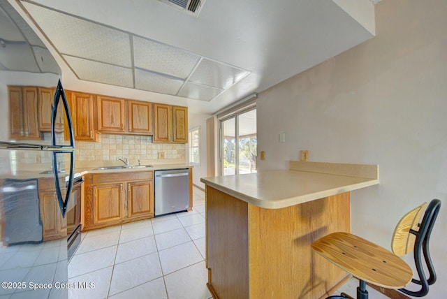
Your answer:
[[[208,299],[205,194],[193,189],[193,211],[89,231],[68,265],[68,298]],[[357,279],[342,291],[356,295]],[[368,288],[370,298],[388,298]],[[334,294],[334,295],[335,295]]]

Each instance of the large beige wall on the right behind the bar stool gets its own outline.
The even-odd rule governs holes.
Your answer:
[[[446,15],[445,0],[381,1],[375,38],[259,94],[257,105],[259,170],[286,169],[300,149],[310,161],[379,164],[380,184],[351,194],[353,233],[390,249],[404,213],[442,200],[431,243],[438,282],[426,298],[444,298],[447,281]]]

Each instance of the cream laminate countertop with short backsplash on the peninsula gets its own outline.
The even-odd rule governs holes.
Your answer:
[[[290,170],[200,181],[258,207],[279,209],[379,184],[379,166],[291,161]]]

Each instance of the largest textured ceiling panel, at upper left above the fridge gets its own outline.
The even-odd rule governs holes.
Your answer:
[[[132,66],[129,34],[31,3],[24,6],[61,54]]]

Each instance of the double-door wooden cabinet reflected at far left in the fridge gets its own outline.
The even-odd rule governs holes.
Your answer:
[[[10,138],[40,139],[37,87],[9,86]]]

